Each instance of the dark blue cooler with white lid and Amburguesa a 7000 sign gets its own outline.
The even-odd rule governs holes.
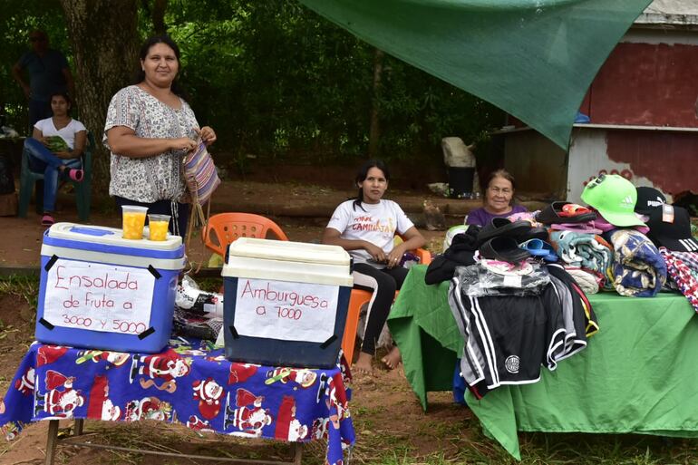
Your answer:
[[[331,368],[354,285],[344,248],[240,237],[223,266],[226,357]]]

